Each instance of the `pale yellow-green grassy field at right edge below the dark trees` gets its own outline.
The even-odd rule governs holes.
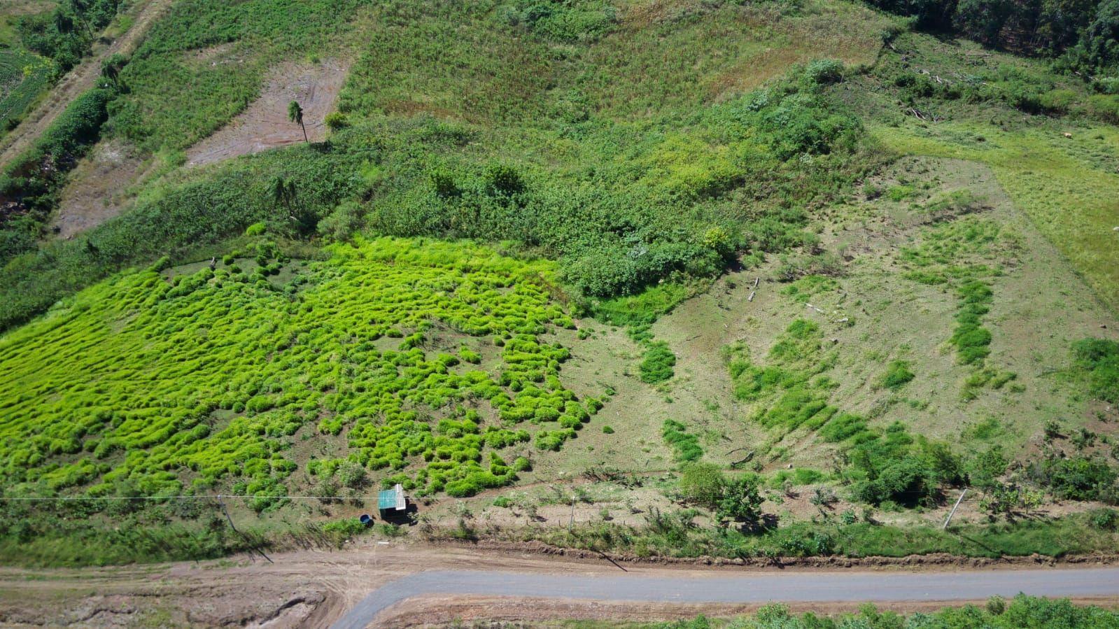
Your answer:
[[[887,90],[862,100],[871,133],[901,154],[974,160],[989,166],[1015,207],[1071,262],[1076,272],[1112,310],[1119,308],[1119,247],[1115,190],[1119,175],[1111,166],[1119,130],[1100,124],[1088,106],[1090,92],[1072,77],[1054,74],[1043,63],[991,53],[960,43],[944,46],[928,36],[908,35],[895,44],[899,54],[884,55],[875,78],[895,83],[905,71],[900,54],[916,56],[922,69],[963,93],[913,95],[909,87]],[[935,85],[935,84],[934,84]],[[972,87],[978,86],[978,87]],[[1044,93],[1057,87],[1075,94],[1079,105],[1051,115],[1028,115],[1015,106],[1023,91]],[[978,92],[970,92],[978,90]],[[921,123],[877,98],[901,97],[942,120]],[[1101,96],[1107,98],[1107,96]],[[1027,112],[1032,113],[1032,112]],[[1065,133],[1071,138],[1065,138]]]

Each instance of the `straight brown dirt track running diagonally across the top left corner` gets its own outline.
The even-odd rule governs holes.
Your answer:
[[[58,85],[51,88],[47,100],[35,107],[11,133],[8,133],[0,141],[0,168],[7,166],[8,162],[35,143],[35,140],[46,131],[47,126],[50,126],[50,123],[70,104],[70,101],[94,86],[97,77],[101,76],[102,60],[116,53],[132,54],[143,41],[151,25],[163,15],[163,11],[170,8],[172,2],[173,0],[149,0],[145,2],[137,13],[132,27],[124,35],[109,46],[95,49],[92,56],[83,59],[77,67],[64,76]]]

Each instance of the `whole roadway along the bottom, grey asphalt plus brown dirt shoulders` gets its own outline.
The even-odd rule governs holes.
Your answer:
[[[1119,600],[1119,567],[920,571],[674,566],[573,560],[523,546],[363,541],[345,551],[91,569],[0,567],[0,626],[410,627],[459,619],[664,620],[794,610],[900,611],[1017,592]],[[942,602],[943,601],[943,602]]]

